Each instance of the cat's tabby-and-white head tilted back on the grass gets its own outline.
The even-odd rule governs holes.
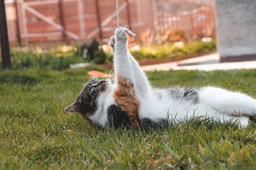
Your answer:
[[[109,79],[91,79],[83,86],[74,103],[66,107],[64,111],[69,113],[79,112],[92,124],[104,127],[104,124],[107,123],[106,119],[101,120],[103,119],[100,118],[102,115],[98,115],[98,112],[102,112],[104,102],[107,100],[106,98],[112,89],[113,85]]]

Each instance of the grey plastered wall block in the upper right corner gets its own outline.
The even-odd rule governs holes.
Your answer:
[[[216,0],[221,61],[256,56],[256,1]]]

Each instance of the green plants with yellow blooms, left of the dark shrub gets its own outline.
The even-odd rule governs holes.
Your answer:
[[[12,48],[11,62],[12,69],[34,68],[61,71],[70,67],[70,64],[83,62],[83,58],[76,54],[76,48],[72,46],[66,46],[66,48],[57,46],[48,51],[40,48]]]

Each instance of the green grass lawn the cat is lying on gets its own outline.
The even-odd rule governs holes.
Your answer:
[[[220,86],[256,97],[256,70],[147,75],[153,86]],[[255,169],[255,122],[99,130],[63,113],[88,78],[85,69],[0,72],[0,169]]]

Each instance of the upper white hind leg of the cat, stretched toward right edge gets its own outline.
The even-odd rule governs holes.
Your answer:
[[[199,100],[229,116],[255,116],[256,99],[240,92],[206,87],[199,92]]]

